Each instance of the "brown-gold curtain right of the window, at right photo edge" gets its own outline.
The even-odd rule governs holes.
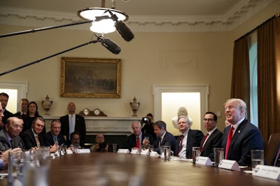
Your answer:
[[[258,127],[265,141],[280,132],[280,17],[257,29]]]

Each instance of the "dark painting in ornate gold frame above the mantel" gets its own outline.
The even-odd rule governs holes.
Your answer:
[[[121,59],[62,57],[61,96],[120,98]]]

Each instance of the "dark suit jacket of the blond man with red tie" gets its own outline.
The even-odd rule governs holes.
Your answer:
[[[228,132],[231,125],[225,127],[223,132],[222,147],[225,149],[228,140]],[[263,140],[262,134],[258,127],[255,127],[246,118],[237,127],[235,134],[230,142],[230,148],[228,149],[228,160],[235,160],[239,165],[250,166],[251,165],[251,150],[262,150]]]

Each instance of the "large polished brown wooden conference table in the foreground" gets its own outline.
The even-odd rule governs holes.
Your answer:
[[[246,168],[249,170],[251,168]],[[80,153],[50,162],[49,186],[64,185],[280,185],[279,180],[252,176],[183,160],[122,153]],[[6,180],[0,180],[4,185]]]

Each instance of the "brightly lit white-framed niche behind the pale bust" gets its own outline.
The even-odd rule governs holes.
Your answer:
[[[188,109],[188,116],[193,121],[192,129],[206,132],[202,126],[202,117],[208,110],[209,86],[154,85],[153,95],[155,121],[165,121],[167,131],[174,136],[180,134],[172,123],[172,118],[177,116],[179,107]]]

